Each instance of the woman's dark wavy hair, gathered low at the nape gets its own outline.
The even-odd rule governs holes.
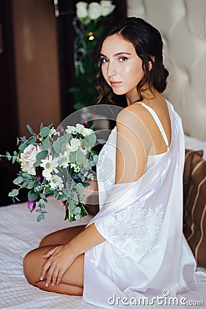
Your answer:
[[[137,17],[126,17],[123,21],[116,23],[109,27],[100,37],[94,49],[95,64],[98,67],[98,72],[93,78],[93,85],[98,90],[99,96],[97,103],[102,99],[108,102],[113,102],[113,91],[102,76],[102,60],[100,52],[102,44],[108,36],[118,34],[124,40],[133,43],[137,56],[142,60],[142,69],[144,70],[144,77],[137,84],[137,93],[139,100],[144,100],[142,91],[147,84],[149,89],[155,87],[157,91],[163,92],[167,85],[168,70],[163,65],[163,41],[159,31]],[[152,69],[149,70],[148,62],[152,62]]]

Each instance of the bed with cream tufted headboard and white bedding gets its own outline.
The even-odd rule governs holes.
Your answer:
[[[206,160],[205,14],[205,0],[128,0],[128,16],[147,19],[163,34],[165,65],[171,76],[165,97],[183,119],[185,148],[203,150],[203,162]],[[36,222],[37,214],[30,214],[25,203],[0,208],[0,308],[97,308],[82,303],[81,297],[47,293],[27,283],[22,265],[25,253],[38,246],[45,234],[87,224],[92,218],[89,215],[77,222],[64,221],[64,208],[53,198],[49,198],[47,209],[45,220]],[[206,304],[196,308],[206,308]]]

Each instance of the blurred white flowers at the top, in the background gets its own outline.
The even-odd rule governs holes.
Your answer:
[[[109,0],[100,1],[100,3],[91,2],[90,4],[85,1],[76,3],[76,16],[87,22],[99,19],[101,16],[108,16],[113,10],[115,10],[115,5]]]

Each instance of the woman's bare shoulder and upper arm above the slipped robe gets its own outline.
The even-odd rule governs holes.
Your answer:
[[[115,183],[132,183],[144,174],[152,139],[141,120],[142,108],[128,106],[117,115]],[[143,110],[144,112],[144,110]]]

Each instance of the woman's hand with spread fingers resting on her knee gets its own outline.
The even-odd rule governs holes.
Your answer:
[[[71,266],[77,256],[72,255],[69,250],[68,244],[63,244],[48,251],[43,258],[47,259],[42,271],[41,281],[46,280],[45,286],[49,286],[52,282],[52,286],[61,282],[62,276],[65,271]]]

